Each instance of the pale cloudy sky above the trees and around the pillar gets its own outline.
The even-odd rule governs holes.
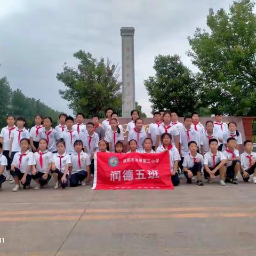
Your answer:
[[[53,109],[73,114],[59,95],[56,78],[64,62],[76,67],[73,53],[92,53],[121,66],[121,27],[134,27],[135,98],[148,117],[150,102],[143,81],[154,76],[158,54],[186,55],[188,36],[207,28],[212,7],[228,9],[231,0],[0,0],[0,77],[13,90],[40,99]],[[120,74],[120,79],[121,79]]]

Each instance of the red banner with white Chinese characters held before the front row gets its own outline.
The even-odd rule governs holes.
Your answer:
[[[92,189],[173,189],[169,153],[97,152]]]

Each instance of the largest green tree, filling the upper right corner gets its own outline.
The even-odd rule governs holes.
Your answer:
[[[256,17],[250,0],[234,1],[207,15],[209,29],[189,37],[192,58],[200,73],[201,99],[228,115],[256,115]]]

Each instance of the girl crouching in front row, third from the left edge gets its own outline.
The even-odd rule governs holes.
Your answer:
[[[33,166],[32,179],[36,182],[35,190],[41,189],[52,178],[52,153],[47,150],[47,140],[39,140],[39,150],[34,153],[35,165]]]

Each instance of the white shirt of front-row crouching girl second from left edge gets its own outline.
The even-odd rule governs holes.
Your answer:
[[[32,173],[32,165],[35,165],[35,157],[33,152],[27,150],[27,152],[25,153],[26,155],[21,156],[21,151],[17,152],[14,157],[13,157],[13,161],[12,164],[15,165],[15,167],[17,167],[22,173],[25,173],[27,170],[28,165],[31,165],[31,168],[28,172],[29,175],[31,175]]]

